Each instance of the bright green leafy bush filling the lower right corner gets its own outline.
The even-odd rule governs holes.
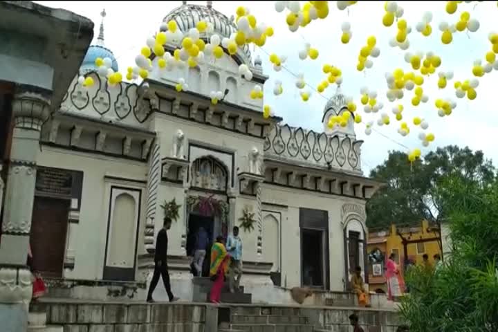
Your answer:
[[[498,331],[498,182],[459,172],[440,181],[434,195],[452,254],[436,271],[407,273],[401,312],[412,332]]]

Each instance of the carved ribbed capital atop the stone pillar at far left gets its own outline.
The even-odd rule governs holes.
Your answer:
[[[39,93],[17,93],[12,100],[15,127],[42,130],[42,124],[50,116],[50,100]]]

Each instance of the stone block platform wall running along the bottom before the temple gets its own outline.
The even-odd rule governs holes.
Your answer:
[[[396,311],[375,308],[44,299],[37,304],[36,311],[37,327],[30,326],[29,331],[347,332],[351,331],[351,313],[360,317],[360,324],[366,332],[395,332],[400,324]],[[45,314],[45,322],[39,313]],[[43,325],[49,327],[44,329]]]

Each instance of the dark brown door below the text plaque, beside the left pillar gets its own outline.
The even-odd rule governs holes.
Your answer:
[[[46,277],[62,277],[69,201],[35,196],[30,245],[33,269]]]

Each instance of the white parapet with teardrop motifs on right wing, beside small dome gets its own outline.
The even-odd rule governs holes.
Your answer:
[[[275,156],[313,166],[361,174],[362,140],[327,136],[288,124],[276,126],[265,140],[265,157]]]

